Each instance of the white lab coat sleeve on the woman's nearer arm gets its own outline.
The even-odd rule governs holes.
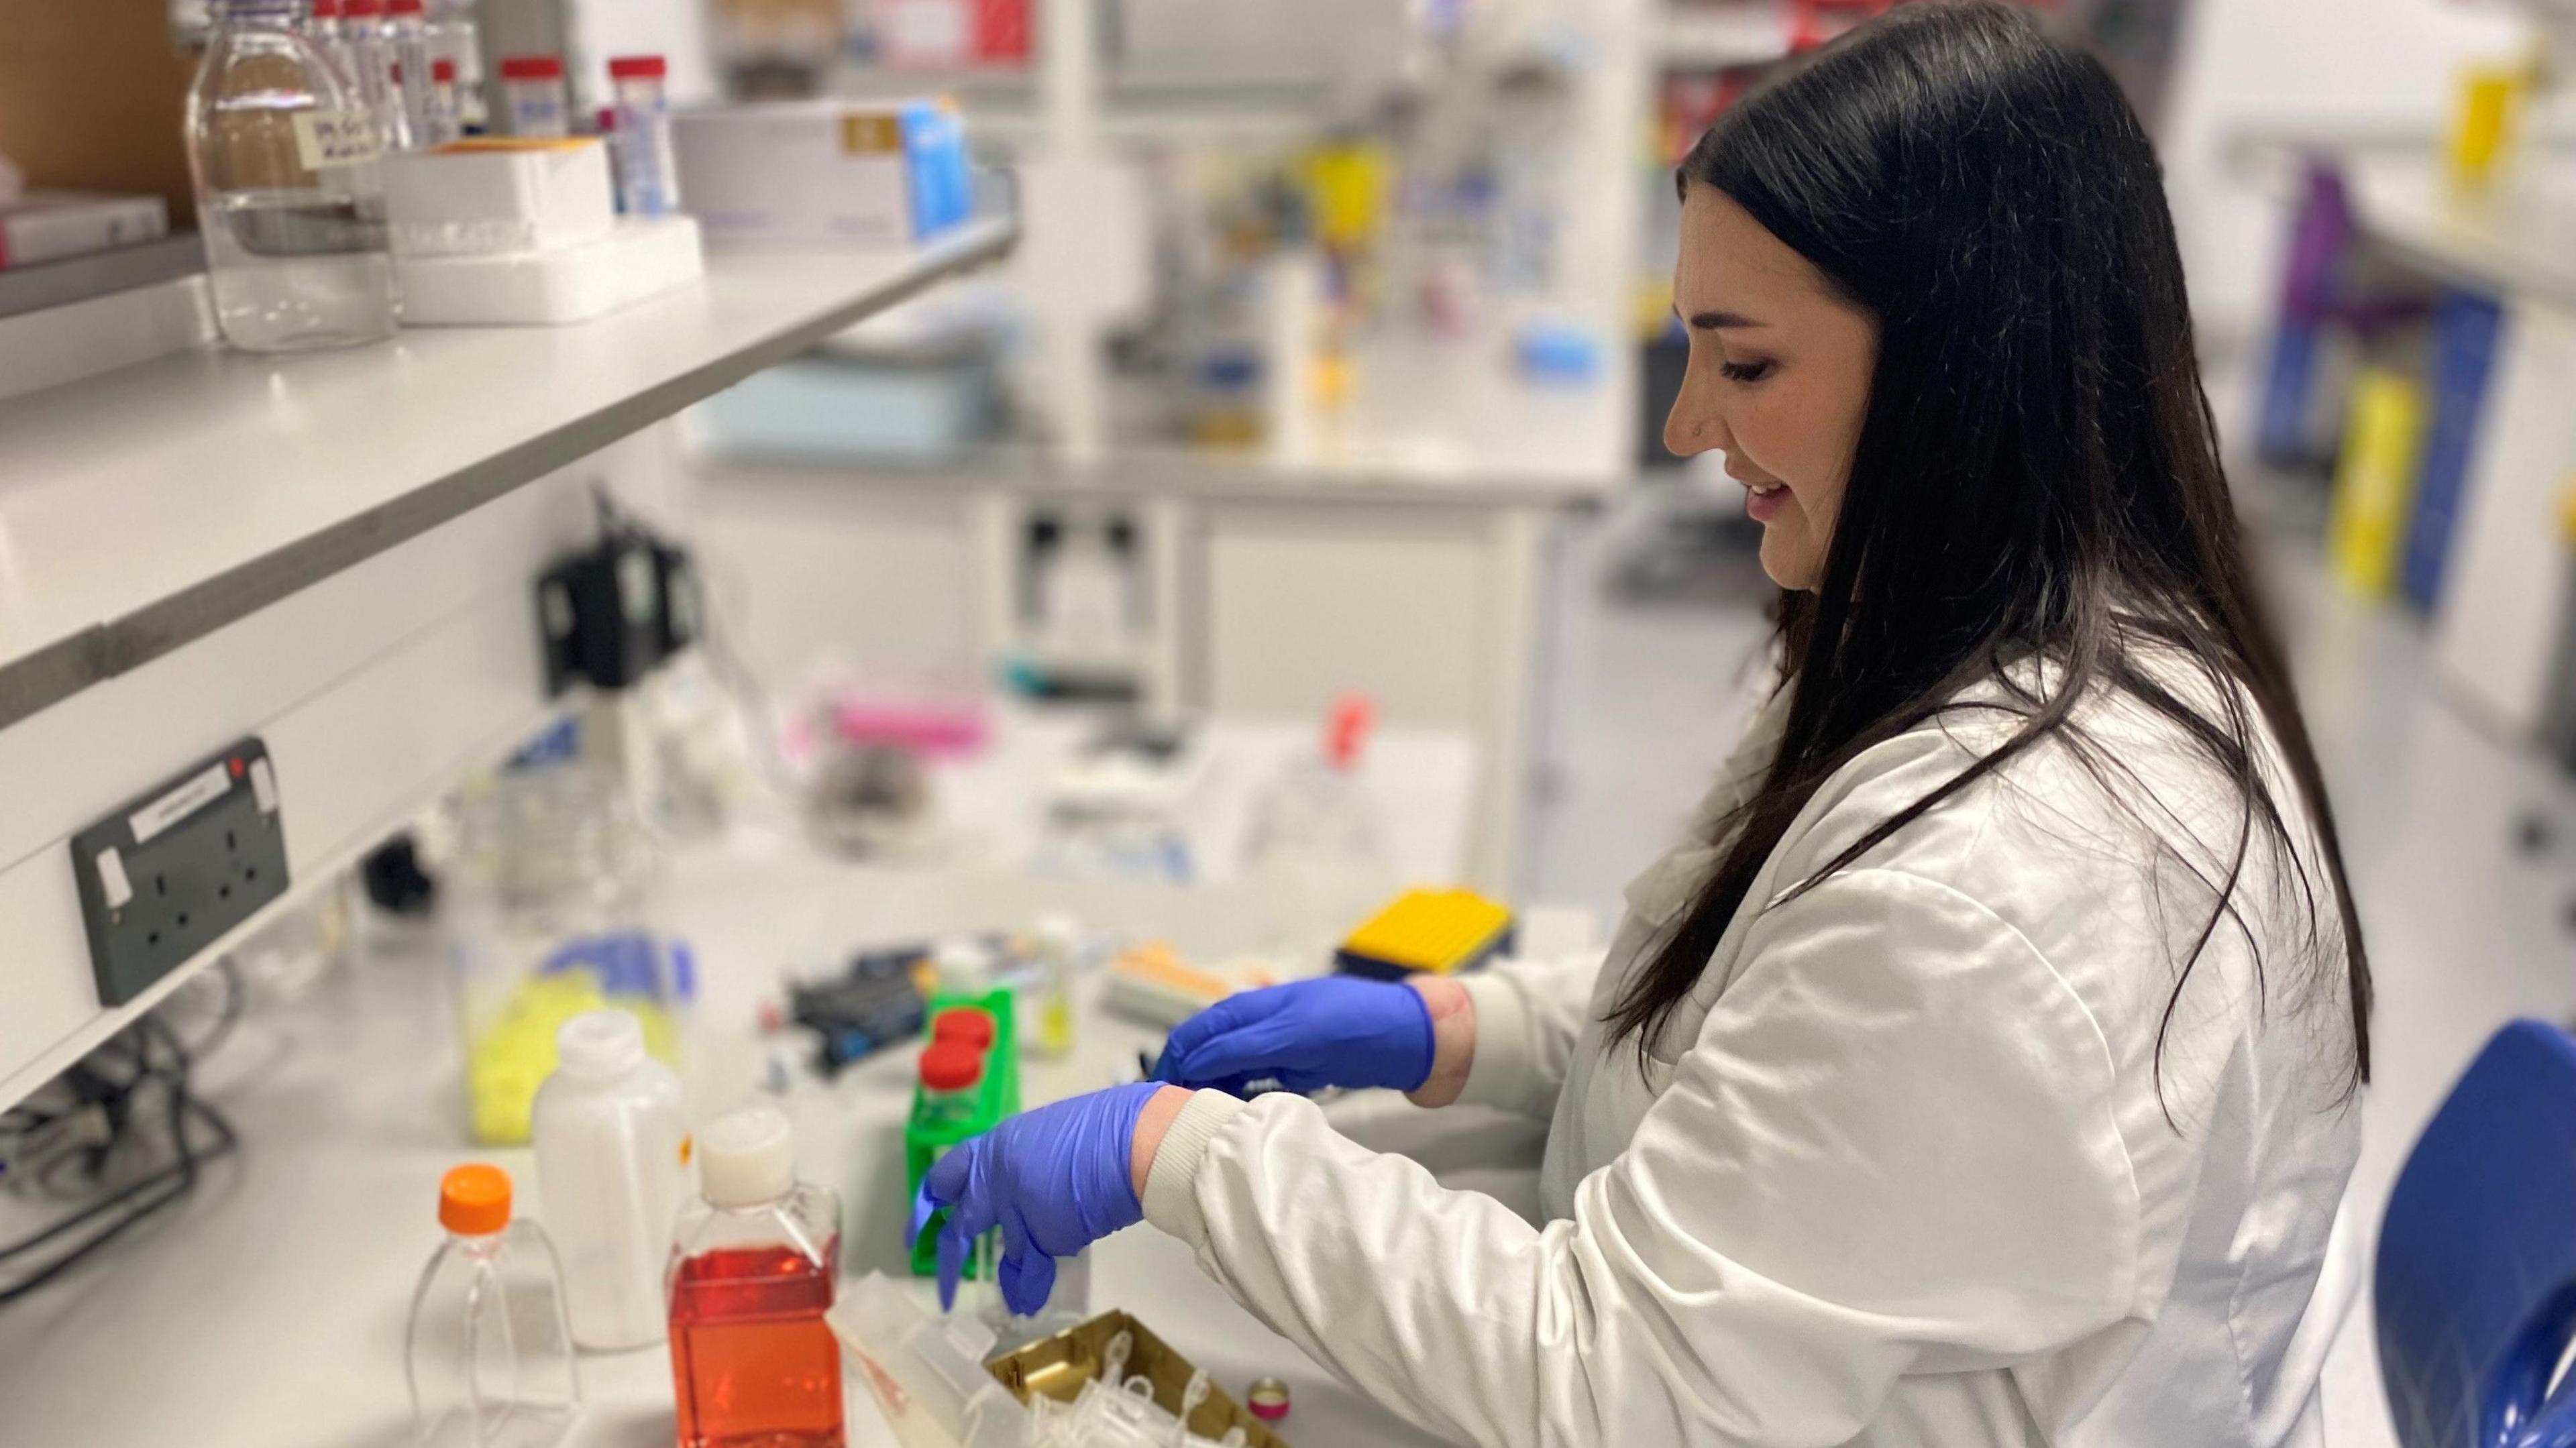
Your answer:
[[[1546,1226],[1306,1100],[1216,1092],[1164,1139],[1146,1216],[1373,1399],[1494,1445],[1844,1443],[1904,1373],[2133,1311],[2110,1051],[1950,886],[1855,871],[1775,904],[1659,1069],[1628,1149]]]

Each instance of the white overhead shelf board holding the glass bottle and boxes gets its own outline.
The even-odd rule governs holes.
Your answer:
[[[574,327],[345,353],[188,350],[0,402],[0,729],[631,435],[933,281],[907,250],[714,252]]]

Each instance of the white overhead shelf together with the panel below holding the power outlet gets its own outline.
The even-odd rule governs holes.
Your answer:
[[[157,995],[100,1007],[70,835],[260,734],[289,873],[343,866],[544,716],[533,580],[595,538],[598,487],[677,510],[670,415],[1015,240],[714,252],[572,327],[180,345],[0,399],[0,1103]],[[201,314],[204,281],[149,299]],[[126,361],[85,317],[0,319],[0,363],[93,332]]]

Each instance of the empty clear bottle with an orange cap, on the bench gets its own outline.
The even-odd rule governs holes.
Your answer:
[[[448,1239],[420,1273],[404,1342],[412,1443],[546,1448],[582,1409],[564,1317],[564,1268],[546,1229],[510,1216],[510,1172],[451,1170],[438,1183]]]

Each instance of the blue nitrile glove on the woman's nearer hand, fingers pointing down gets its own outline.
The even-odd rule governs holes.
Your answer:
[[[1128,1180],[1136,1118],[1159,1082],[1136,1082],[1025,1110],[958,1141],[930,1165],[912,1201],[912,1237],[933,1211],[940,1229],[940,1306],[956,1306],[974,1239],[1002,1229],[1002,1301],[1020,1317],[1056,1291],[1056,1257],[1144,1221]]]

